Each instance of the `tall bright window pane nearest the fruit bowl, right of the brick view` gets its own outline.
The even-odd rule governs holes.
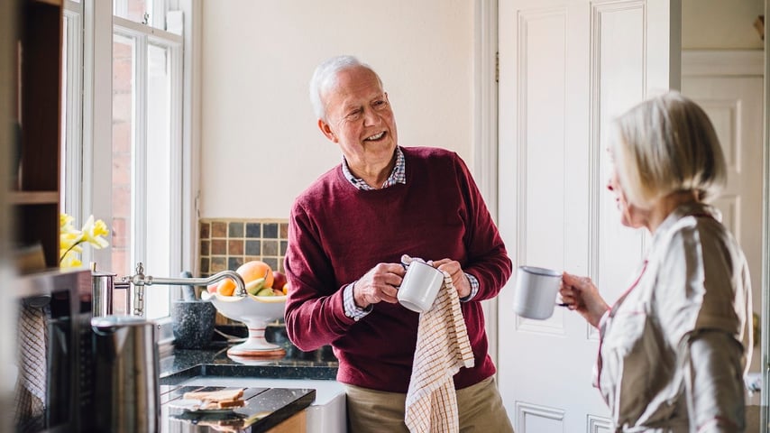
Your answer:
[[[179,255],[170,251],[172,230],[179,230],[179,225],[171,225],[173,200],[179,201],[179,194],[173,194],[174,185],[171,176],[176,170],[171,158],[170,138],[170,74],[169,52],[157,45],[147,47],[147,146],[145,185],[147,185],[147,238],[146,261],[151,264],[152,274],[171,276],[170,258]],[[179,290],[177,288],[176,290]],[[148,318],[168,316],[170,310],[170,289],[156,286],[147,290],[146,297]]]

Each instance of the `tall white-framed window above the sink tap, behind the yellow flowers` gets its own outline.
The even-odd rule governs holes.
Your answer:
[[[93,255],[100,270],[119,277],[139,262],[148,275],[176,276],[188,247],[180,229],[182,176],[189,176],[181,157],[183,40],[162,30],[166,1],[108,5],[65,2],[62,210],[78,222],[93,214],[110,226],[110,247],[87,250],[84,263]],[[171,293],[147,288],[145,315],[169,316]]]

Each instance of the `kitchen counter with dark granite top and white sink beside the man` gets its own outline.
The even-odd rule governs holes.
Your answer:
[[[237,329],[225,329],[235,335]],[[335,382],[337,360],[331,347],[302,352],[285,338],[282,327],[266,338],[286,350],[271,358],[230,357],[225,341],[204,349],[173,349],[160,359],[160,431],[262,432],[305,410],[307,432],[345,431],[343,385]],[[246,388],[248,404],[219,413],[175,408],[184,392]]]

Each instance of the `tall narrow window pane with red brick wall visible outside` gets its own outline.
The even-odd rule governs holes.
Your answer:
[[[113,38],[113,140],[112,140],[112,272],[133,275],[131,213],[134,143],[134,75],[136,46],[132,38]]]

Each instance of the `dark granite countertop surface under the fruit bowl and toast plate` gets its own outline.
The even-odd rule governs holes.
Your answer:
[[[231,336],[245,335],[245,327],[217,328]],[[236,410],[205,412],[176,408],[175,402],[179,402],[184,392],[222,388],[203,388],[201,385],[189,384],[195,382],[191,381],[193,379],[206,378],[208,382],[216,382],[215,378],[222,378],[223,382],[227,382],[225,379],[243,377],[276,379],[281,383],[292,379],[335,380],[338,363],[331,347],[324,346],[313,352],[303,352],[289,342],[285,327],[279,322],[265,330],[265,338],[286,351],[285,355],[279,357],[234,359],[227,355],[227,348],[233,343],[228,343],[218,334],[216,336],[204,348],[174,348],[171,355],[160,359],[161,432],[266,431],[307,409],[316,400],[316,390],[313,389],[251,387],[246,388],[244,394],[247,405]]]

